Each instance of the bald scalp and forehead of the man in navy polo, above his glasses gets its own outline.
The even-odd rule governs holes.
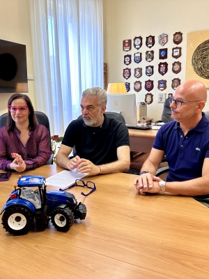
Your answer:
[[[206,86],[197,80],[187,80],[180,84],[175,92],[178,94],[178,98],[183,100],[202,100],[206,103],[207,100],[207,89]]]

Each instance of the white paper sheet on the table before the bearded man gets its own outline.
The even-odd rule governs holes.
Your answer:
[[[88,174],[76,172],[75,169],[73,170],[63,170],[62,172],[59,172],[58,174],[54,174],[52,176],[49,176],[46,179],[46,184],[50,186],[55,186],[59,188],[67,188],[71,184],[75,183],[75,179],[82,179],[84,176]]]

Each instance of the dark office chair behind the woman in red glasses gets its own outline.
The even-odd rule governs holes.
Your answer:
[[[2,114],[0,116],[0,128],[3,127],[3,126],[6,126],[7,114],[8,114],[8,112],[6,112],[5,114]],[[43,112],[35,112],[35,114],[36,114],[36,117],[38,119],[38,123],[45,126],[47,128],[47,130],[49,131],[50,151],[52,151],[49,119],[48,119],[47,115]],[[53,164],[53,154],[51,155],[49,160],[47,160],[46,165],[52,165],[52,164]]]

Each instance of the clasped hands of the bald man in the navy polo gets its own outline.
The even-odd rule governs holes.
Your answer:
[[[160,177],[154,176],[148,172],[134,179],[134,186],[141,195],[146,195],[146,193],[159,193],[161,192],[161,188],[158,184],[159,181],[162,181]]]

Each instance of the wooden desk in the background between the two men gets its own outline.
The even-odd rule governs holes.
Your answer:
[[[130,150],[149,153],[158,130],[134,130],[128,129],[130,138]]]

